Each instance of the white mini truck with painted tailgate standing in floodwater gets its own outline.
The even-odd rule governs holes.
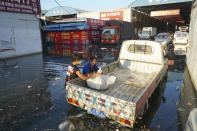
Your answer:
[[[115,84],[106,90],[95,90],[80,78],[71,80],[66,85],[67,101],[97,117],[108,117],[133,128],[167,68],[160,43],[124,41],[119,59],[102,68],[103,74],[116,77]]]

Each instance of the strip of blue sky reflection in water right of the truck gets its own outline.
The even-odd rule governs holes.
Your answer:
[[[177,120],[177,104],[179,102],[179,94],[182,89],[182,73],[181,72],[168,72],[168,78],[162,102],[155,114],[150,129],[154,130],[178,130]]]

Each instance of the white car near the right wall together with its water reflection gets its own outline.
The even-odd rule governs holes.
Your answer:
[[[175,55],[185,55],[187,53],[188,36],[187,32],[175,32],[173,40]]]

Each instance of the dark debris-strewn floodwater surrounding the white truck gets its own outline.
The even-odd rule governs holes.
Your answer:
[[[119,47],[99,48],[98,65],[117,60],[118,53]],[[150,99],[147,113],[137,120],[136,130],[182,130],[189,111],[197,107],[185,60],[176,61]],[[42,54],[0,61],[0,130],[130,130],[66,102],[64,83],[71,62],[69,57]]]

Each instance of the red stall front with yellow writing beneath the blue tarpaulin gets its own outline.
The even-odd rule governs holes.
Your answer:
[[[75,52],[81,53],[83,57],[88,54],[87,31],[72,32],[47,32],[47,39],[53,43],[48,53],[55,56],[72,56]]]

